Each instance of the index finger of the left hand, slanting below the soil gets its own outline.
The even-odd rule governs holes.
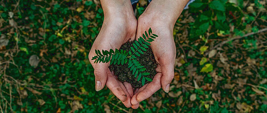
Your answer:
[[[120,87],[120,85],[118,84],[117,80],[111,74],[110,70],[109,70],[109,73],[108,73],[108,79],[107,79],[107,84],[106,85],[119,100],[121,100],[122,102],[127,100],[126,93]]]

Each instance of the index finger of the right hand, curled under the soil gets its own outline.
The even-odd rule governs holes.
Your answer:
[[[141,102],[149,97],[151,97],[158,89],[160,89],[160,78],[162,74],[157,73],[153,78],[153,81],[142,91],[140,91],[136,97],[138,102]]]

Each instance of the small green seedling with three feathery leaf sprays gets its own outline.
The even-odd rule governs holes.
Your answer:
[[[152,79],[145,77],[150,75],[148,72],[143,71],[146,70],[144,66],[142,66],[139,61],[137,61],[137,57],[140,57],[140,54],[144,54],[144,52],[147,51],[146,48],[149,48],[149,45],[151,45],[148,42],[154,41],[154,39],[158,37],[156,34],[152,33],[152,29],[149,28],[149,31],[145,31],[145,34],[143,34],[143,37],[139,37],[138,41],[135,40],[133,47],[131,48],[131,51],[126,52],[125,50],[118,50],[115,49],[110,49],[110,51],[107,50],[102,50],[102,53],[100,50],[95,50],[95,53],[97,56],[94,56],[92,60],[95,60],[94,63],[108,63],[110,61],[110,65],[112,64],[118,64],[118,65],[123,65],[128,62],[128,68],[130,68],[130,71],[133,71],[133,75],[135,77],[138,76],[137,81],[140,81],[142,76],[142,85],[145,85],[146,80],[147,81],[152,81]],[[153,39],[154,38],[154,39]],[[135,56],[136,55],[136,56]]]

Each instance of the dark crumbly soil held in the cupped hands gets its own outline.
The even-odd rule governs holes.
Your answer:
[[[126,50],[126,52],[130,51],[130,47],[133,47],[133,41],[132,42],[126,42],[125,44],[123,44],[119,50]],[[151,47],[147,48],[147,51],[144,52],[144,54],[140,57],[136,56],[137,60],[140,62],[141,65],[145,66],[145,68],[147,68],[147,70],[143,71],[144,72],[148,72],[150,73],[150,75],[147,75],[146,77],[150,78],[153,80],[154,76],[156,75],[156,70],[155,68],[157,67],[157,63],[156,60],[154,58],[153,52]],[[132,85],[133,88],[140,88],[142,87],[142,78],[140,81],[137,81],[137,77],[134,77],[134,75],[132,75],[132,71],[130,71],[130,68],[128,68],[128,62],[126,64],[123,65],[117,65],[117,64],[113,64],[109,66],[111,71],[114,71],[114,75],[117,76],[117,79],[119,81],[123,82],[128,82]],[[145,84],[150,83],[149,81],[146,81]]]

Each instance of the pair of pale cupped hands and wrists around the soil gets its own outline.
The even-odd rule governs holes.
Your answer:
[[[161,87],[165,92],[169,92],[170,83],[174,78],[176,57],[173,28],[189,0],[152,0],[138,21],[130,0],[100,1],[104,11],[104,22],[89,53],[89,60],[95,69],[96,90],[99,91],[107,85],[125,107],[133,109],[137,109],[141,101],[152,96]],[[135,92],[129,83],[121,83],[116,79],[108,68],[109,63],[94,63],[91,60],[96,56],[95,49],[119,49],[128,40],[138,39],[149,28],[158,35],[151,43],[158,63],[157,74],[153,82],[138,88]]]

